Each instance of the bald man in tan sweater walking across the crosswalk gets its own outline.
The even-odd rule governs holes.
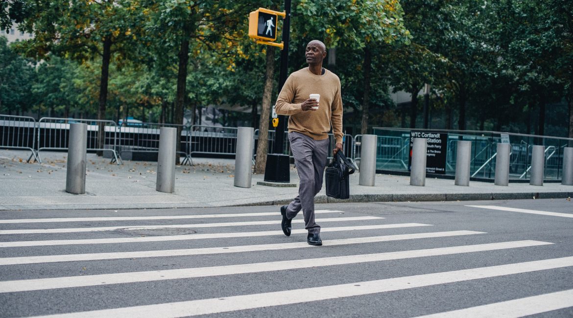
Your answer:
[[[305,57],[308,67],[286,79],[275,107],[277,114],[290,116],[288,138],[300,178],[299,196],[281,207],[281,227],[291,236],[291,220],[302,209],[308,244],[322,245],[320,226],[315,223],[315,196],[322,188],[331,126],[336,139],[333,153],[342,150],[342,97],[339,78],[322,67],[324,43],[309,42]]]

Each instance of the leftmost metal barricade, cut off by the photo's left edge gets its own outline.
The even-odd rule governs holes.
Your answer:
[[[40,162],[36,153],[36,120],[27,116],[11,116],[0,114],[0,148],[25,149],[32,152],[27,162]]]

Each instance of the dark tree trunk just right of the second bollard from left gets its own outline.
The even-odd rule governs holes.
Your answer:
[[[183,125],[183,109],[185,108],[185,95],[187,94],[187,63],[189,62],[189,39],[184,38],[179,48],[179,66],[177,72],[177,96],[175,97],[175,114],[174,124]],[[177,147],[176,151],[181,149],[179,136],[181,136],[181,126],[177,126]],[[179,164],[179,154],[175,154],[175,164]]]

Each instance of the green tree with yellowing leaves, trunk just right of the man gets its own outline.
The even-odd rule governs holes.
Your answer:
[[[301,1],[296,7],[296,13],[300,14],[300,18],[293,19],[297,29],[295,34],[302,35],[305,40],[324,38],[327,47],[360,51],[361,132],[366,133],[371,104],[372,63],[386,63],[373,57],[378,57],[376,53],[382,47],[407,44],[410,41],[410,32],[404,26],[400,3],[397,0]],[[354,75],[353,79],[358,80]]]

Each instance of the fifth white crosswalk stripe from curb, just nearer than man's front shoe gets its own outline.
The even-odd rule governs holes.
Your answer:
[[[0,281],[0,293],[39,291],[42,289],[87,287],[96,285],[126,284],[126,283],[137,283],[137,282],[159,281],[159,280],[189,279],[195,277],[236,275],[244,273],[261,273],[261,272],[283,271],[287,269],[410,259],[414,257],[451,255],[457,253],[470,253],[470,252],[480,252],[480,251],[494,251],[496,249],[532,247],[532,246],[547,245],[547,244],[553,244],[553,243],[525,240],[525,241],[511,241],[503,243],[462,245],[456,247],[418,249],[414,251],[321,257],[318,259],[286,260],[286,261],[273,261],[264,263],[223,265],[214,267],[167,269],[164,271],[128,272],[128,273],[89,275],[89,276],[54,277],[48,279]]]

